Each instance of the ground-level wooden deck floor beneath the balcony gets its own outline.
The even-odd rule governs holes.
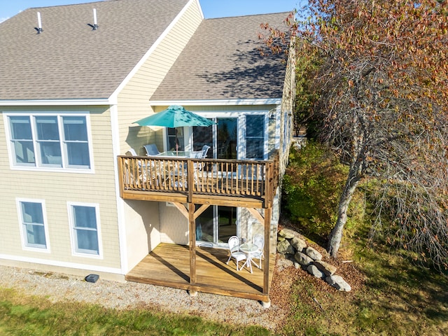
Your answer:
[[[223,248],[196,248],[197,281],[190,285],[190,252],[188,246],[159,244],[125,277],[127,281],[149,283],[184,290],[244,297],[269,301],[269,293],[262,293],[263,271],[253,266],[237,271],[235,260],[228,260]],[[269,262],[269,287],[275,265],[275,255]]]

